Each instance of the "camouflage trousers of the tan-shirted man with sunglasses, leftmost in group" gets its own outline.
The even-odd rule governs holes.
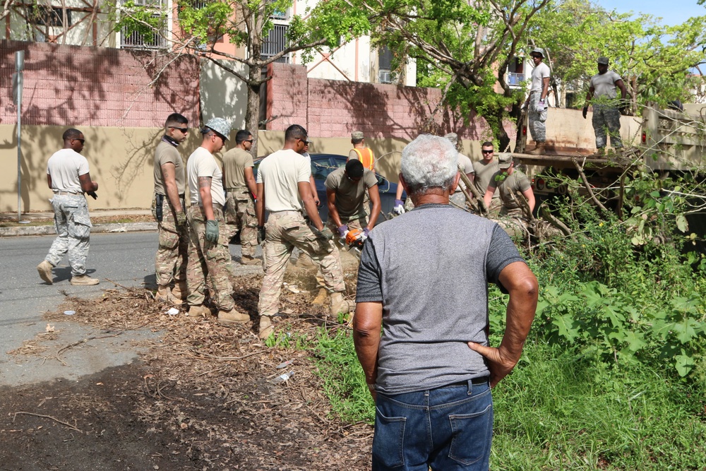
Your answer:
[[[152,200],[152,207],[156,201]],[[184,200],[181,200],[181,208]],[[189,227],[177,227],[172,203],[164,196],[162,201],[162,221],[157,221],[157,231],[160,237],[160,246],[155,256],[155,275],[157,285],[169,285],[174,282],[186,281],[186,255],[189,253]]]

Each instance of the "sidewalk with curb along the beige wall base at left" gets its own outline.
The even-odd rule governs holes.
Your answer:
[[[93,221],[92,234],[98,232],[133,232],[156,231],[157,222],[152,220],[152,213],[148,209],[107,209],[91,210],[90,217]],[[150,222],[107,222],[96,223],[104,218],[121,220],[145,220]],[[23,221],[34,222],[35,225],[13,225],[13,227],[0,227],[0,237],[30,236],[30,235],[55,235],[54,213],[52,211],[38,213],[24,213]],[[0,213],[0,223],[17,222],[17,213]],[[39,223],[41,222],[41,224]]]

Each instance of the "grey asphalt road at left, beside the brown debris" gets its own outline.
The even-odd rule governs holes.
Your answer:
[[[119,234],[92,234],[88,254],[88,274],[100,278],[100,285],[72,286],[68,280],[71,269],[66,258],[54,269],[54,285],[47,285],[37,275],[37,263],[46,256],[54,237],[0,238],[0,386],[16,386],[49,379],[76,379],[109,366],[132,362],[137,353],[131,340],[154,337],[148,331],[124,333],[115,339],[92,340],[80,349],[71,349],[62,355],[66,366],[56,360],[44,360],[51,355],[51,347],[61,347],[96,335],[95,330],[77,323],[57,325],[61,330],[56,342],[44,342],[51,347],[44,354],[8,355],[6,352],[23,345],[44,333],[47,323],[42,312],[54,310],[63,301],[64,294],[95,297],[103,289],[114,285],[109,278],[124,286],[155,287],[156,232],[125,232]],[[230,246],[234,258],[239,259],[240,246]],[[258,252],[259,255],[259,252]],[[243,266],[243,273],[257,273],[259,266]],[[109,352],[96,355],[95,352]]]

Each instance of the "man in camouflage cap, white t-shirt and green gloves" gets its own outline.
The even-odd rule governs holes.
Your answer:
[[[205,301],[206,278],[210,279],[211,299],[218,306],[218,322],[229,325],[246,323],[250,316],[235,309],[231,296],[230,252],[227,231],[220,230],[225,224],[223,206],[223,176],[213,153],[225,145],[230,133],[230,124],[222,118],[210,119],[201,131],[201,146],[193,151],[186,162],[189,179],[191,208],[189,208],[189,264],[186,268],[186,284],[189,287],[189,316],[210,314]]]

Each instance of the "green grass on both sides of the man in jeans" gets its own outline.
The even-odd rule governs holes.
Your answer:
[[[350,332],[322,330],[312,351],[334,413],[372,423]],[[493,390],[491,469],[706,469],[705,390],[642,364],[580,359],[533,337]]]

